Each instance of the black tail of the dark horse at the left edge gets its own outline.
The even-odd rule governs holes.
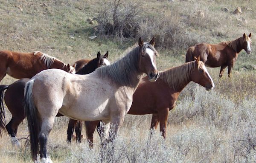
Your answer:
[[[6,131],[5,124],[5,111],[4,111],[4,104],[3,104],[3,97],[4,97],[4,90],[7,90],[9,85],[0,85],[0,136],[2,136],[1,129]]]

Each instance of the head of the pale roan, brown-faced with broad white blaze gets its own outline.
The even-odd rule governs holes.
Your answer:
[[[148,75],[148,79],[150,82],[157,81],[159,78],[159,73],[157,71],[156,66],[156,56],[158,55],[157,51],[154,48],[154,37],[151,41],[143,42],[143,40],[139,39],[140,46],[140,63],[139,69]]]

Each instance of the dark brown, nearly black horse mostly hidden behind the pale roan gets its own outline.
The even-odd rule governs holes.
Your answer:
[[[110,62],[108,61],[108,52],[102,56],[99,52],[97,53],[97,57],[89,60],[89,62],[81,67],[80,70],[76,74],[88,74],[93,72],[96,68],[109,65]],[[17,143],[16,135],[17,129],[19,124],[23,121],[26,117],[24,114],[24,87],[25,84],[29,81],[28,78],[20,79],[10,85],[0,85],[0,133],[1,129],[6,129],[8,134],[11,136],[13,143]],[[6,92],[4,93],[4,90]],[[5,126],[5,116],[4,116],[4,105],[3,105],[3,97],[8,107],[9,111],[12,113],[11,121]],[[57,116],[63,116],[58,113]],[[68,130],[67,130],[67,141],[71,141],[71,136],[74,131],[74,126],[76,126],[77,120],[70,119]],[[80,129],[76,131],[77,135],[77,142],[81,142],[81,121],[77,124],[77,128]]]

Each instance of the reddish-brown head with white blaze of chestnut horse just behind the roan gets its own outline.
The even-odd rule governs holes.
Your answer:
[[[192,81],[205,87],[206,90],[211,90],[215,87],[211,76],[209,75],[204,62],[200,61],[200,56],[195,57],[195,70],[192,75]]]

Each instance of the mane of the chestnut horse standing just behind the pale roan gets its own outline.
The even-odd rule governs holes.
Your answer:
[[[195,62],[187,62],[181,66],[173,67],[160,72],[159,79],[174,90],[185,87],[191,81],[190,76],[195,69]]]

